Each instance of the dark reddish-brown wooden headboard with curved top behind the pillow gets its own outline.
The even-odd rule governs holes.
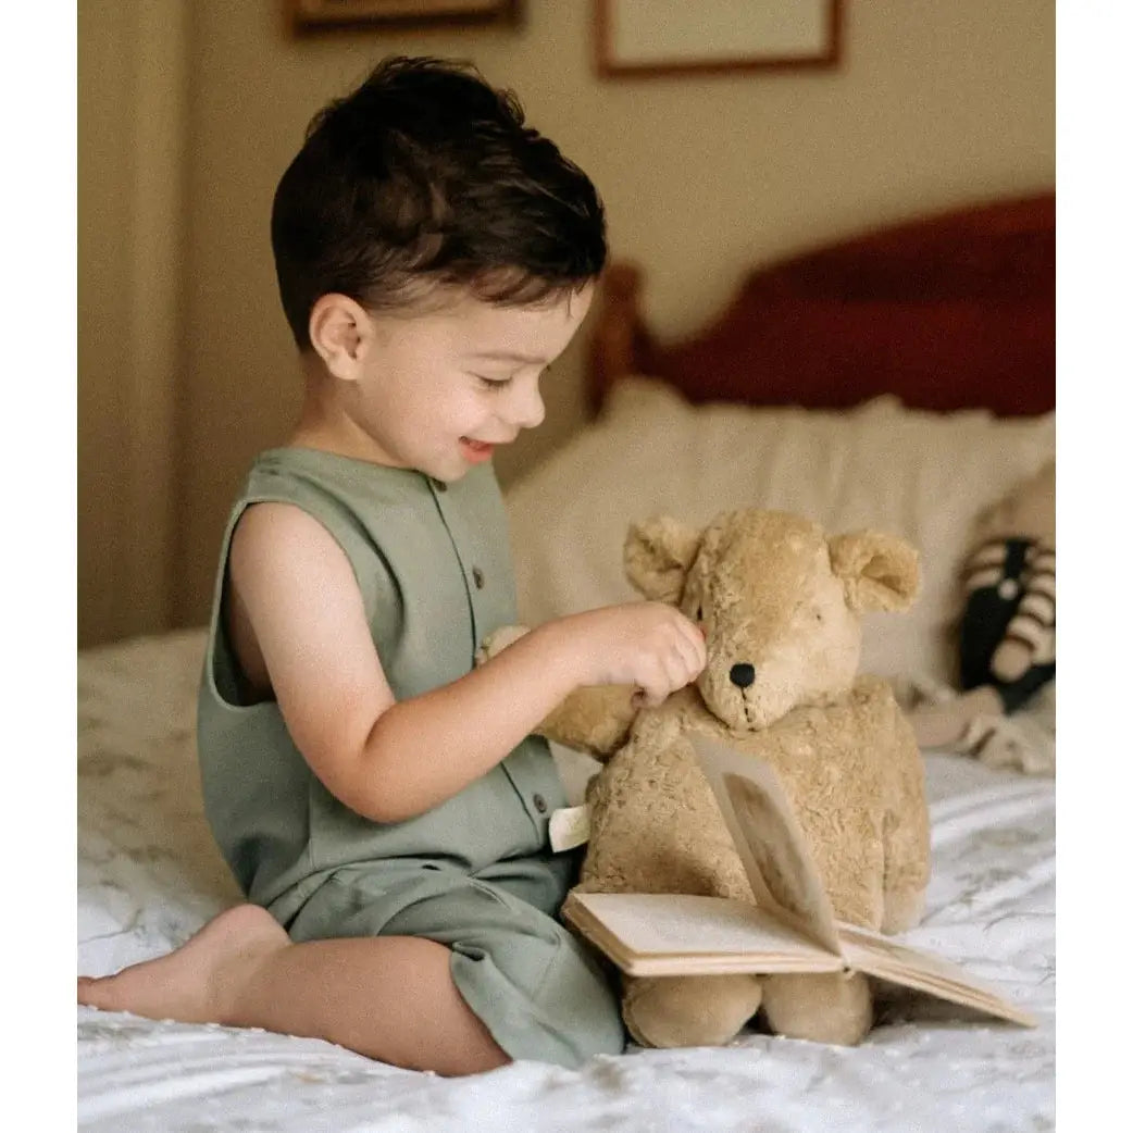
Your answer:
[[[986,407],[1055,404],[1054,194],[936,214],[753,271],[708,326],[665,343],[640,308],[642,274],[607,269],[590,358],[597,411],[619,377],[690,401]]]

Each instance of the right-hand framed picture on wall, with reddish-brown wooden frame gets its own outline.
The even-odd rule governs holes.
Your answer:
[[[606,78],[834,67],[842,0],[591,0]]]

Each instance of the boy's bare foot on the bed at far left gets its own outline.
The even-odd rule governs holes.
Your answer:
[[[289,943],[266,909],[237,905],[168,956],[133,964],[102,979],[80,976],[78,1002],[147,1019],[224,1023],[233,993],[248,972],[264,955]]]

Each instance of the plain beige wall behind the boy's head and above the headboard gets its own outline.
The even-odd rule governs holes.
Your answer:
[[[837,71],[621,82],[593,75],[590,0],[527,0],[520,31],[301,40],[283,0],[191,7],[179,624],[204,619],[230,497],[297,400],[267,241],[275,180],[314,110],[383,54],[470,57],[513,86],[594,177],[614,254],[646,266],[647,308],[673,333],[709,315],[752,263],[1054,184],[1053,0],[847,0]],[[547,424],[502,454],[505,480],[577,427],[580,376],[576,346],[546,391]],[[80,387],[101,380],[84,373]]]

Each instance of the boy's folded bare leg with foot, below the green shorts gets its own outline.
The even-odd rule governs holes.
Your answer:
[[[444,945],[414,937],[292,944],[258,905],[210,921],[177,952],[100,980],[78,1002],[150,1019],[327,1039],[438,1074],[510,1062],[452,982]]]

